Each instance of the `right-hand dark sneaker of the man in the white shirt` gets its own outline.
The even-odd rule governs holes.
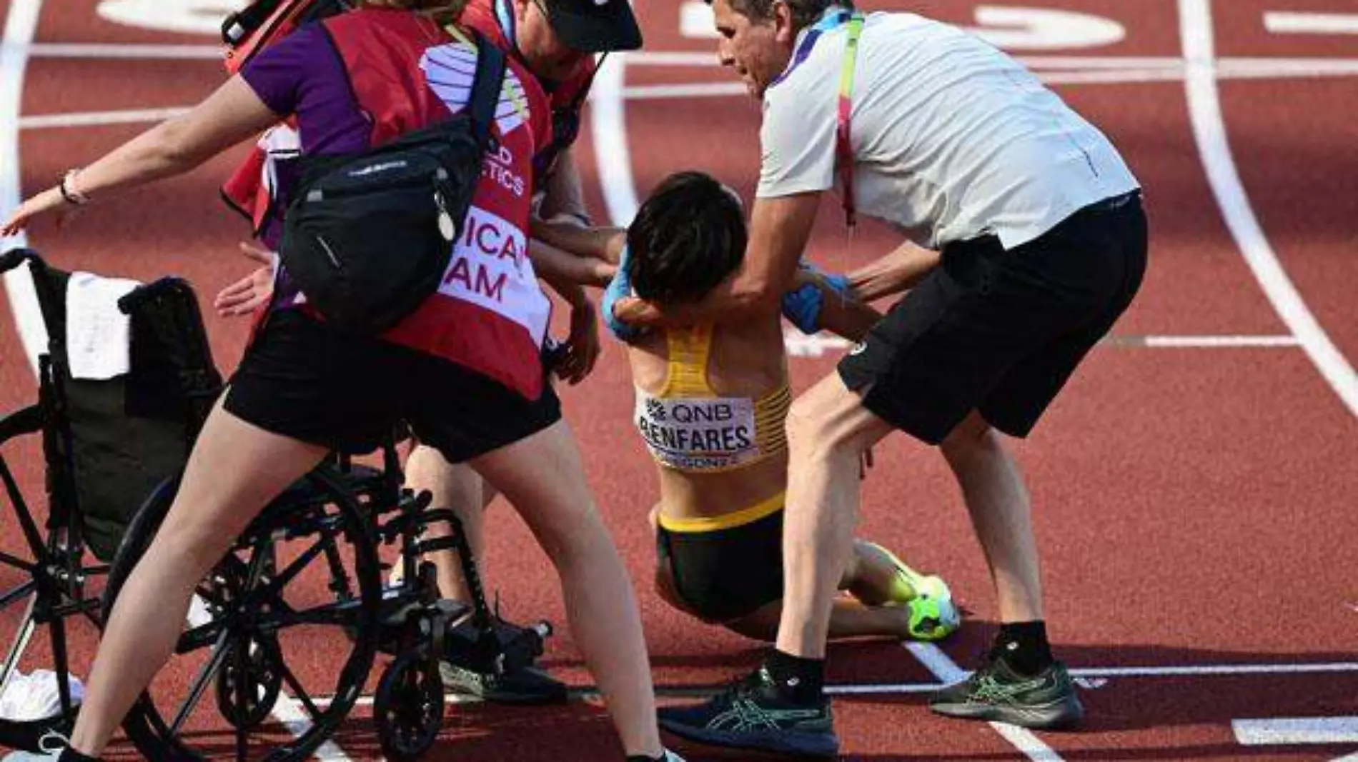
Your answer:
[[[1062,728],[1085,716],[1070,674],[1061,662],[1025,678],[1004,659],[991,659],[967,679],[934,693],[929,708],[949,717],[994,720],[1024,728]]]

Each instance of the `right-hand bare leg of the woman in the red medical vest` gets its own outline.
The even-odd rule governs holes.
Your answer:
[[[561,578],[566,618],[627,754],[661,754],[641,614],[564,420],[471,461],[523,517]]]

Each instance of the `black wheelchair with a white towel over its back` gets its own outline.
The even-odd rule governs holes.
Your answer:
[[[49,351],[41,363],[39,403],[0,419],[0,443],[42,434],[50,510],[42,537],[0,460],[0,477],[34,557],[0,555],[0,564],[31,578],[0,594],[0,606],[33,597],[29,618],[52,628],[53,658],[64,677],[64,620],[81,614],[98,625],[111,613],[170,510],[187,452],[223,384],[193,290],[175,278],[120,300],[120,309],[132,317],[133,336],[133,369],[122,381],[72,380],[62,346],[65,274],[29,249],[0,256],[0,273],[22,263],[34,277]],[[87,384],[107,386],[99,389],[106,399],[94,420],[73,404],[88,393]],[[153,428],[159,439],[132,431],[139,426]],[[90,438],[121,446],[111,466],[86,466],[79,456]],[[166,445],[170,441],[174,446]],[[440,660],[496,674],[542,655],[550,624],[516,626],[490,609],[455,514],[430,508],[428,494],[402,488],[398,441],[394,433],[378,453],[378,465],[340,454],[326,458],[270,502],[200,580],[170,662],[124,719],[128,738],[145,758],[308,758],[340,729],[383,652],[391,660],[373,696],[380,746],[388,759],[416,759],[443,723]],[[128,470],[152,485],[91,484]],[[107,511],[100,519],[92,503],[79,499],[87,494],[117,498],[111,519]],[[133,498],[130,503],[140,507],[129,511],[129,495],[147,496]],[[109,521],[98,523],[103,519]],[[440,521],[454,532],[425,538],[425,527]],[[84,560],[92,526],[103,536],[88,548],[106,565]],[[403,575],[384,587],[388,564],[380,549],[388,545],[395,546],[394,563],[402,564]],[[458,550],[470,603],[439,598],[433,564],[421,556],[441,549]],[[86,580],[105,574],[102,595],[87,594]],[[31,629],[27,625],[20,636]],[[5,675],[16,663],[11,651]],[[33,748],[43,732],[69,728],[77,706],[65,681],[58,685],[61,715],[12,728],[10,735],[0,724],[0,743]]]

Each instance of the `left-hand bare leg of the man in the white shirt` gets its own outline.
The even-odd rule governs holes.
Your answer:
[[[851,557],[860,456],[891,433],[838,373],[797,399],[788,416],[784,607],[778,649],[824,659],[830,611]]]

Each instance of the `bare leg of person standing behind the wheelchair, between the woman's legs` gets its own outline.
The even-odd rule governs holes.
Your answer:
[[[485,507],[496,499],[496,489],[485,483],[471,466],[451,464],[443,454],[426,445],[417,445],[406,458],[406,487],[433,496],[432,508],[449,508],[458,514],[467,545],[477,564],[483,563]],[[452,534],[448,522],[435,522],[425,527],[425,538],[435,540]],[[425,556],[439,569],[439,594],[454,601],[471,601],[467,580],[462,575],[462,559],[456,550],[436,550]]]

